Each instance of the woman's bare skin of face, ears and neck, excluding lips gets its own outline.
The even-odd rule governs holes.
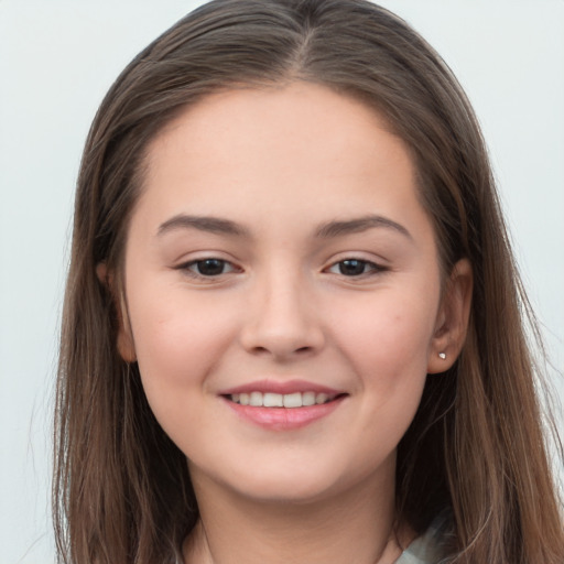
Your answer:
[[[369,214],[384,220],[319,236]],[[210,258],[218,273],[198,273]],[[343,274],[347,259],[366,261],[360,274]],[[149,148],[124,272],[118,346],[200,509],[186,562],[398,558],[413,533],[392,531],[395,448],[427,373],[462,347],[471,273],[460,261],[442,291],[413,163],[384,120],[305,83],[205,98]],[[295,379],[345,398],[279,430],[223,397]]]

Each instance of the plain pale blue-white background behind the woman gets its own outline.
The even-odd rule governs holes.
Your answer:
[[[54,558],[51,412],[86,132],[122,67],[198,3],[0,0],[1,563]],[[524,281],[562,372],[564,2],[381,3],[437,48],[475,105]]]

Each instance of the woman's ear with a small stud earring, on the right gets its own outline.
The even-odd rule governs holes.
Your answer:
[[[459,260],[448,278],[429,350],[427,373],[451,368],[463,348],[471,306],[473,271],[467,259]]]

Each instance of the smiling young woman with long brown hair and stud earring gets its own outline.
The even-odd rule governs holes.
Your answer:
[[[413,30],[202,7],[84,152],[62,558],[561,563],[528,321],[473,110]]]

